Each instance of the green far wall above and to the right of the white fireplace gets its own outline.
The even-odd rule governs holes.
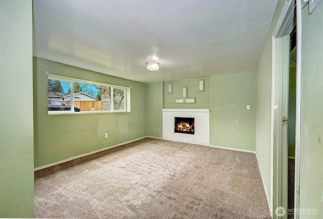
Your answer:
[[[200,79],[164,82],[164,108],[209,108],[210,145],[254,151],[256,72],[203,79],[204,91],[198,91]],[[172,93],[168,93],[168,83],[173,85]],[[175,103],[175,98],[182,97],[182,87],[187,87],[187,97],[195,97],[195,103]]]

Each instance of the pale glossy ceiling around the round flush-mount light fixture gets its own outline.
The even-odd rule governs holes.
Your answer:
[[[276,5],[34,0],[33,55],[140,82],[251,72]],[[159,62],[159,70],[147,72],[147,61]]]

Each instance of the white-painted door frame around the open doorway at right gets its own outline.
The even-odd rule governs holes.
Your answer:
[[[300,161],[300,74],[301,74],[301,0],[296,0],[296,28],[297,28],[297,67],[296,67],[296,124],[295,124],[295,200],[294,200],[294,209],[299,208],[299,161]],[[285,1],[281,15],[278,19],[276,27],[272,35],[272,108],[271,108],[271,197],[270,197],[270,211],[273,218],[276,218],[274,206],[274,193],[279,192],[281,188],[276,188],[278,191],[274,191],[274,171],[277,170],[274,168],[274,108],[277,106],[274,105],[274,95],[275,95],[275,73],[277,71],[278,63],[277,60],[277,50],[278,45],[276,44],[276,39],[284,35],[289,35],[293,29],[293,19],[295,13],[295,4],[294,1]],[[277,140],[277,139],[276,139]],[[276,154],[275,154],[276,155]],[[281,161],[281,160],[279,160]],[[275,202],[276,203],[276,202]],[[286,209],[287,211],[287,209]],[[296,212],[296,211],[295,211]],[[287,215],[287,212],[286,212]],[[285,215],[285,216],[286,216]],[[299,215],[295,213],[295,218],[298,219]]]

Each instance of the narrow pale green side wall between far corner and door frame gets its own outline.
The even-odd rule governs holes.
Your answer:
[[[272,34],[285,1],[278,1],[257,67],[256,154],[268,197],[271,194]]]

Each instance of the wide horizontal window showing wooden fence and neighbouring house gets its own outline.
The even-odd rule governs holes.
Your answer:
[[[126,112],[127,89],[49,76],[48,114]]]

